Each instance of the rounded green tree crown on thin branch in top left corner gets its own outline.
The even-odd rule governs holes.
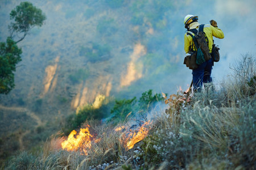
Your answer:
[[[9,25],[11,37],[14,32],[24,33],[23,37],[16,41],[19,42],[24,39],[31,28],[41,27],[44,20],[46,20],[46,15],[43,14],[42,10],[33,6],[32,3],[21,2],[11,11],[10,19],[14,19],[14,22]]]

